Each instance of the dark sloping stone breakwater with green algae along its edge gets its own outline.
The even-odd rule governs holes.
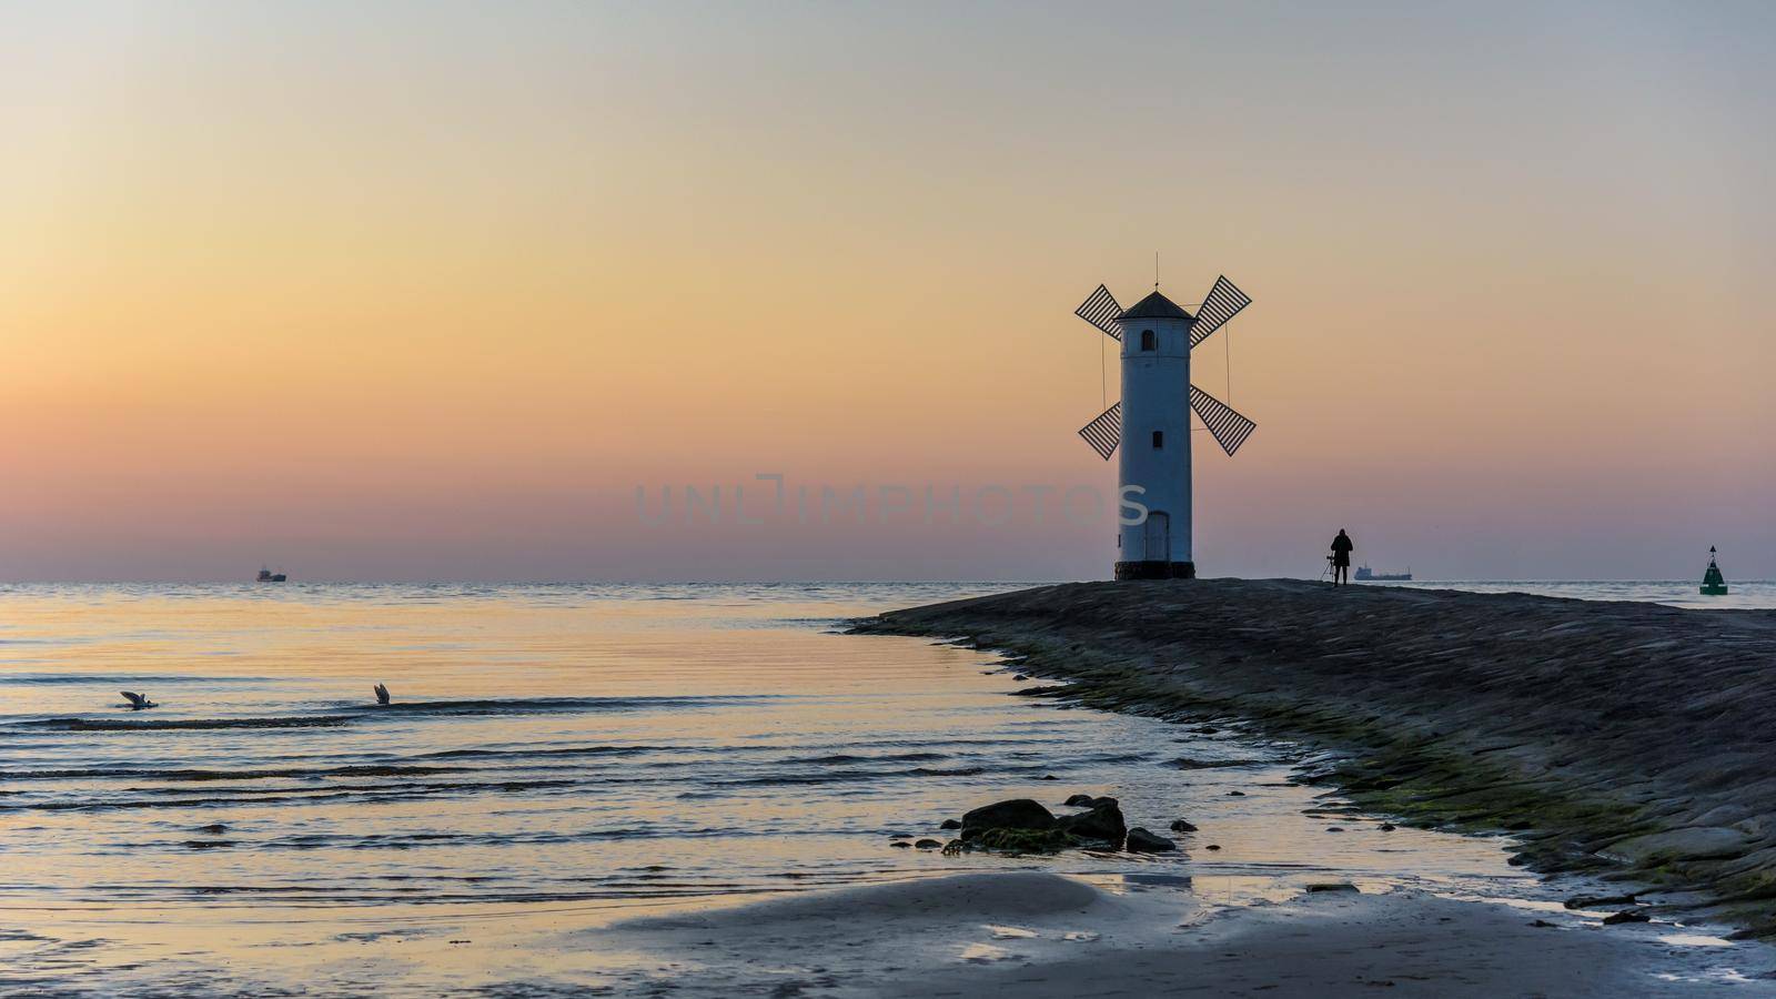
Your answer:
[[[856,631],[970,638],[1092,707],[1339,748],[1302,779],[1776,935],[1776,611],[1195,579],[1043,587]]]

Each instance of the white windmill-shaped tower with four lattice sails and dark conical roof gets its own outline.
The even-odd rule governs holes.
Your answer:
[[[1122,309],[1103,284],[1078,315],[1122,347],[1122,400],[1080,430],[1105,460],[1121,446],[1122,496],[1147,508],[1117,531],[1117,579],[1190,579],[1197,574],[1190,542],[1190,411],[1233,455],[1257,427],[1227,404],[1190,384],[1190,350],[1252,304],[1220,277],[1197,315],[1154,288]]]

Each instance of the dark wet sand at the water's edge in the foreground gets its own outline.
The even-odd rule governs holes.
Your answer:
[[[1652,926],[1423,892],[1318,892],[1220,915],[1188,892],[991,873],[641,919],[577,946],[680,963],[675,995],[1712,995]],[[1538,924],[1540,919],[1540,924]],[[1668,928],[1666,928],[1668,930]]]

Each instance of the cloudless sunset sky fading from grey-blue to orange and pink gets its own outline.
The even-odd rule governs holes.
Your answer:
[[[1204,574],[1346,526],[1772,578],[1771,52],[1769,4],[5,4],[0,581],[1103,578],[1108,521],[634,492],[1108,494],[1073,309],[1154,251],[1254,299]]]

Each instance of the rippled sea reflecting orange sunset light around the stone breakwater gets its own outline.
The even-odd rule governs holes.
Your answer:
[[[1508,839],[1384,828],[1240,718],[1016,697],[993,651],[844,633],[1027,585],[0,587],[0,992],[670,988],[599,928],[982,869],[1181,919],[1325,880],[1559,910]],[[1776,583],[1412,585],[1776,608]],[[1074,793],[1181,850],[911,844]]]

